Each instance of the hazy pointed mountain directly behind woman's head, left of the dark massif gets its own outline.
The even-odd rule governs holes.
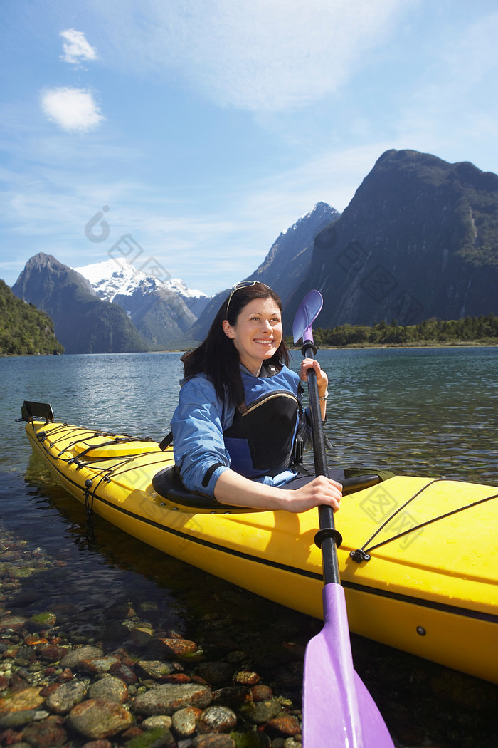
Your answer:
[[[278,236],[261,265],[241,280],[267,283],[278,293],[285,308],[300,280],[310,272],[314,237],[324,227],[337,221],[339,216],[340,213],[327,203],[317,203],[311,212]],[[189,331],[190,344],[205,338],[220,304],[229,292],[230,289],[225,289],[209,301]]]

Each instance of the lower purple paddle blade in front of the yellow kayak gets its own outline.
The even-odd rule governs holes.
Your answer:
[[[324,626],[308,643],[303,748],[393,748],[382,715],[352,664],[344,590],[323,588]]]

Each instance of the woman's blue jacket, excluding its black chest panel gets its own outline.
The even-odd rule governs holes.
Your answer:
[[[252,402],[271,390],[287,391],[296,397],[299,404],[301,402],[299,375],[287,367],[282,367],[280,372],[271,377],[255,377],[245,367],[241,367],[241,374],[248,408]],[[198,374],[182,385],[171,429],[175,464],[180,469],[181,480],[190,491],[214,496],[217,479],[224,470],[231,467],[228,440],[225,441],[224,432],[234,423],[234,416],[235,408],[228,406],[226,402],[220,402],[213,384],[204,374]],[[309,438],[307,426],[305,423],[300,424],[296,417],[293,435],[298,430],[305,440]],[[243,470],[237,471],[244,474]],[[292,480],[296,471],[284,468],[276,475],[246,475],[255,475],[259,482],[278,486]]]

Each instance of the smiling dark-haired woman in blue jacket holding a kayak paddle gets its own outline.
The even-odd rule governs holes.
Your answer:
[[[190,491],[220,503],[289,512],[328,504],[337,511],[342,486],[333,479],[293,486],[295,445],[308,431],[300,381],[311,368],[317,373],[325,420],[328,379],[308,358],[299,375],[288,368],[281,309],[269,286],[243,281],[221,305],[205,341],[184,354],[171,423],[175,464]]]

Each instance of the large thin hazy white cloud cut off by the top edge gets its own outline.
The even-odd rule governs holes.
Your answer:
[[[416,1],[87,0],[85,11],[115,67],[173,74],[218,105],[261,112],[343,87]]]

